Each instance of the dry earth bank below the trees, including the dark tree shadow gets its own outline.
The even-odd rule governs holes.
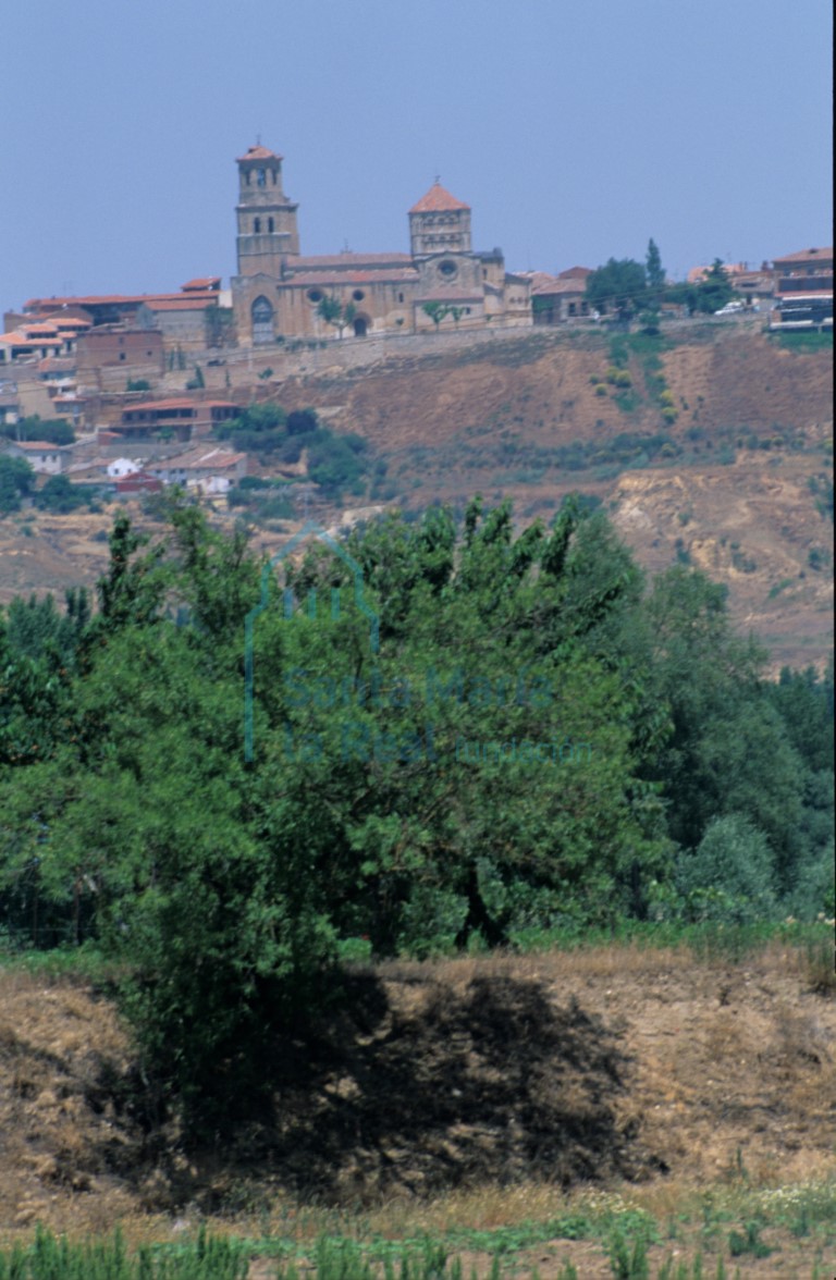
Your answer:
[[[373,1204],[483,1183],[822,1176],[836,1005],[798,956],[608,948],[360,970],[277,1047],[271,1102],[210,1149],[137,1105],[110,1004],[0,974],[0,1226],[109,1228],[257,1196]],[[348,1006],[347,1006],[348,1007]]]

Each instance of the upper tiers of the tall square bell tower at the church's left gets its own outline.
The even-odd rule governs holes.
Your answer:
[[[283,259],[298,253],[294,205],[282,189],[282,156],[259,143],[238,156],[238,275],[282,275]]]

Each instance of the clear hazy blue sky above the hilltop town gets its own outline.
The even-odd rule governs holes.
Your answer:
[[[511,269],[831,243],[827,0],[4,5],[0,307],[234,273],[234,156],[302,252],[407,250],[435,174]]]

